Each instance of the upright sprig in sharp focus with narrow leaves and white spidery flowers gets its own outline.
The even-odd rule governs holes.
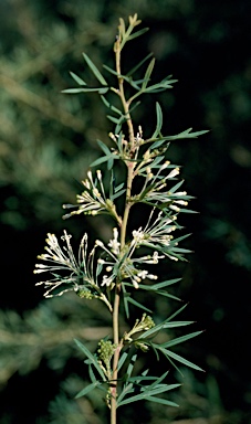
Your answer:
[[[128,403],[138,400],[157,402],[163,405],[177,406],[166,398],[158,394],[176,389],[179,384],[166,383],[167,373],[160,377],[148,375],[143,371],[135,375],[135,362],[138,352],[147,353],[154,349],[155,353],[163,354],[169,362],[179,362],[195,370],[200,368],[187,359],[174,353],[169,347],[184,342],[201,331],[172,338],[166,343],[155,343],[154,338],[160,330],[170,331],[175,327],[190,325],[190,321],[174,321],[180,308],[172,316],[155,325],[151,311],[135,298],[138,290],[147,292],[150,296],[164,296],[166,299],[178,298],[169,293],[169,287],[178,283],[180,278],[157,282],[158,275],[151,274],[153,267],[160,261],[186,261],[185,255],[190,251],[179,245],[188,235],[176,234],[182,231],[178,224],[180,213],[191,213],[188,202],[192,199],[186,191],[180,190],[184,181],[178,180],[180,168],[170,163],[166,158],[169,141],[180,138],[198,137],[207,131],[191,132],[191,128],[176,136],[163,136],[163,112],[156,103],[157,123],[154,134],[144,138],[142,126],[135,136],[132,110],[135,99],[144,94],[156,94],[172,87],[176,80],[164,78],[160,83],[151,83],[151,74],[155,60],[151,60],[139,80],[134,78],[135,72],[140,70],[147,56],[134,70],[127,74],[122,73],[122,51],[124,45],[136,36],[145,33],[145,29],[136,30],[140,24],[137,14],[129,17],[126,24],[119,20],[118,34],[114,44],[115,70],[104,65],[104,68],[116,76],[116,84],[107,83],[92,60],[84,54],[87,66],[100,83],[97,88],[88,87],[77,75],[71,73],[74,81],[80,85],[77,88],[64,91],[67,94],[96,92],[106,107],[108,107],[111,120],[115,124],[114,134],[109,137],[115,147],[108,148],[103,141],[98,145],[103,156],[96,159],[91,167],[98,167],[96,172],[87,171],[86,179],[82,182],[84,190],[76,197],[76,205],[65,204],[64,209],[71,210],[64,218],[86,214],[95,216],[106,214],[113,222],[108,243],[96,240],[90,250],[87,234],[82,237],[79,255],[75,256],[71,235],[64,231],[62,237],[63,246],[54,234],[48,234],[45,254],[39,255],[42,263],[35,265],[34,273],[50,274],[50,278],[39,282],[45,287],[45,297],[61,296],[67,292],[76,293],[83,301],[101,300],[111,312],[113,326],[112,340],[105,339],[97,343],[97,351],[92,353],[81,341],[76,340],[77,347],[88,359],[90,378],[92,383],[84,388],[76,396],[87,395],[91,390],[107,389],[106,403],[111,410],[111,424],[117,422],[117,410]],[[127,98],[127,86],[134,93]],[[106,95],[113,95],[119,99],[121,106],[111,103]],[[146,126],[146,130],[147,126]],[[109,187],[103,181],[103,170],[100,167],[107,166]],[[126,177],[123,183],[116,184],[116,172],[119,173],[123,166]],[[137,181],[137,184],[135,183]],[[133,193],[133,194],[132,194]],[[119,204],[118,204],[119,203]],[[133,226],[130,209],[138,204],[145,208],[143,223],[129,233]],[[123,204],[123,211],[119,209]],[[147,218],[148,216],[148,218]],[[115,221],[115,226],[114,226]],[[125,317],[128,320],[128,330],[119,327],[121,305],[124,306]],[[147,310],[142,318],[136,319],[133,327],[129,324],[130,308]],[[121,374],[122,373],[122,374]]]

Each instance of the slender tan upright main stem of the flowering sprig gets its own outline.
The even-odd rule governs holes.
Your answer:
[[[129,105],[128,102],[126,102],[125,94],[124,94],[124,78],[121,76],[121,40],[117,40],[115,43],[115,57],[116,57],[116,71],[118,75],[118,95],[122,100],[122,105],[124,108],[127,126],[128,126],[128,137],[129,137],[129,146],[132,151],[134,150],[134,127],[129,114]],[[132,206],[130,203],[130,192],[132,192],[132,184],[133,184],[133,178],[134,178],[134,162],[128,161],[127,162],[127,186],[126,186],[126,202],[125,202],[125,211],[124,216],[122,221],[121,226],[121,251],[123,252],[125,247],[126,242],[126,227],[129,216],[129,210]],[[118,315],[119,315],[119,303],[121,303],[121,282],[117,282],[116,289],[115,289],[115,297],[114,297],[114,308],[113,308],[113,335],[114,335],[114,343],[116,344],[116,350],[114,352],[114,360],[113,360],[113,381],[111,384],[111,424],[116,424],[117,421],[117,373],[118,373],[118,360],[121,350],[123,348],[123,340],[119,341],[119,321],[118,321]]]

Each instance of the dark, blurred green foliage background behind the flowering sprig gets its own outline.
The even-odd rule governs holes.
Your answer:
[[[105,317],[88,306],[82,308],[71,296],[41,303],[31,273],[48,231],[66,225],[80,235],[80,226],[90,227],[86,219],[62,222],[61,204],[74,201],[79,181],[98,155],[95,140],[108,141],[112,129],[97,97],[61,94],[72,86],[69,71],[95,85],[82,52],[98,67],[109,64],[117,19],[134,12],[150,31],[136,43],[136,53],[127,50],[128,68],[134,55],[138,60],[153,51],[156,80],[167,73],[179,80],[171,92],[159,96],[165,134],[181,131],[190,123],[195,130],[211,129],[203,140],[179,141],[170,148],[170,159],[185,165],[186,184],[197,198],[194,209],[200,212],[199,219],[184,222],[194,233],[195,254],[182,268],[178,295],[191,300],[200,328],[207,328],[192,350],[187,343],[188,357],[207,373],[186,375],[176,399],[180,409],[143,405],[137,420],[155,424],[251,420],[250,1],[1,0],[3,424],[102,422],[98,414],[104,412],[96,399],[72,399],[84,380],[72,339],[83,337],[91,343],[95,335],[88,333],[90,322],[106,331]],[[146,98],[136,117],[146,132],[154,128],[154,109],[151,98]],[[95,223],[93,234],[98,229],[105,237],[106,222]],[[159,316],[169,307],[157,306]],[[121,423],[133,420],[134,411],[125,409]]]

